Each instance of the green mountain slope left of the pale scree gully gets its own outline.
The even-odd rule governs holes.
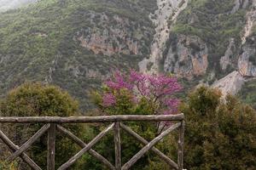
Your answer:
[[[42,0],[1,14],[0,93],[44,81],[88,106],[90,89],[111,69],[133,67],[149,54],[151,9],[148,0]]]

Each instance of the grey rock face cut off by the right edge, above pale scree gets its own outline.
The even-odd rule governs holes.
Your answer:
[[[256,37],[247,37],[239,56],[238,69],[243,77],[256,77]]]

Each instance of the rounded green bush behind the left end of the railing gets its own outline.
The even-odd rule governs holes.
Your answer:
[[[1,101],[1,116],[76,116],[78,102],[67,92],[55,86],[42,83],[26,83],[15,88]],[[43,124],[31,123],[27,125],[3,125],[3,132],[7,133],[15,144],[21,145],[31,138]],[[80,125],[65,125],[73,133],[82,136],[83,128]],[[57,134],[56,137],[56,167],[67,161],[77,151],[73,141]],[[47,134],[44,134],[29,150],[32,159],[40,167],[46,166],[47,161]]]

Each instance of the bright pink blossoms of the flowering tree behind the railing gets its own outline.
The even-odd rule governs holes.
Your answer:
[[[115,71],[113,77],[105,82],[110,92],[119,92],[127,89],[131,92],[133,102],[137,104],[140,99],[145,98],[150,102],[158,103],[161,106],[158,113],[172,114],[177,112],[178,99],[172,99],[172,95],[182,89],[176,77],[169,77],[163,74],[149,75],[137,71],[130,71],[127,76],[120,71]],[[115,105],[116,99],[112,94],[103,96],[103,105]]]

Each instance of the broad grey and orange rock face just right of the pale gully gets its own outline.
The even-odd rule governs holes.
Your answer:
[[[189,79],[206,74],[208,67],[207,44],[196,36],[179,35],[176,41],[176,47],[172,46],[166,55],[165,71]]]

